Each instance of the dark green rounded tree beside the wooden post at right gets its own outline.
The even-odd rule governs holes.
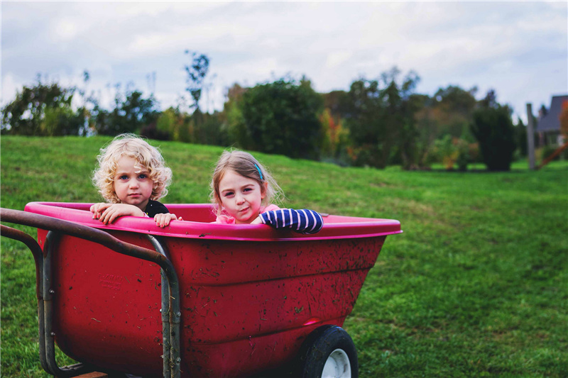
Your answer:
[[[481,157],[490,171],[508,171],[515,151],[515,130],[508,106],[496,101],[495,91],[488,91],[479,101],[471,123],[471,133],[479,142]]]

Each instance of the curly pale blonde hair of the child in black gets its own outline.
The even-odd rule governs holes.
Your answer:
[[[121,201],[114,191],[114,174],[119,159],[132,157],[148,169],[153,189],[150,199],[157,200],[168,194],[168,185],[172,182],[172,170],[165,166],[164,158],[158,148],[134,134],[117,135],[107,147],[101,148],[97,156],[99,167],[94,170],[92,181],[99,193],[107,201],[119,204]]]

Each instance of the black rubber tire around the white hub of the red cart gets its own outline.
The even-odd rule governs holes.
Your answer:
[[[357,350],[351,336],[338,326],[321,326],[307,336],[297,358],[296,377],[322,378],[325,362],[336,349],[343,350],[351,365],[351,378],[359,377]]]

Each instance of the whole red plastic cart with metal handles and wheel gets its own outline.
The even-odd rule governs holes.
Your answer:
[[[144,377],[356,377],[340,328],[398,221],[325,216],[320,233],[211,224],[209,204],[168,204],[186,221],[111,225],[90,204],[1,209],[38,228],[34,252],[40,361],[58,377],[118,371]],[[34,245],[35,244],[35,245]],[[55,346],[80,364],[58,367]]]

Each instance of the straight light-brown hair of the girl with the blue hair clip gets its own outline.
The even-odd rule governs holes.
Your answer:
[[[282,189],[280,189],[275,179],[273,179],[271,173],[268,172],[268,169],[263,167],[253,155],[240,150],[224,150],[219,160],[217,160],[217,165],[213,171],[213,178],[210,183],[210,197],[217,216],[221,215],[223,211],[221,195],[219,194],[219,182],[221,182],[227,170],[232,170],[248,179],[256,180],[261,186],[261,191],[264,193],[262,200],[263,206],[268,206],[272,204],[273,201],[282,201],[284,196]]]

